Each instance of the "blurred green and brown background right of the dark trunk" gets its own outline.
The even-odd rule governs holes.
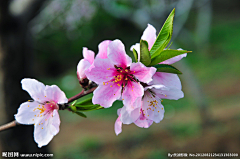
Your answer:
[[[71,97],[81,91],[76,67],[82,48],[98,52],[103,40],[120,39],[126,52],[150,23],[160,31],[176,8],[171,48],[191,50],[176,63],[185,97],[163,100],[164,119],[150,128],[114,122],[121,102],[87,112],[60,111],[54,158],[158,159],[174,152],[240,153],[240,1],[52,0],[29,23],[33,77]],[[19,84],[20,87],[20,84]]]

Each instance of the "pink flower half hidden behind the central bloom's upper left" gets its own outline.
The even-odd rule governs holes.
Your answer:
[[[105,40],[98,45],[99,52],[96,58],[107,58],[107,47],[110,42],[110,40]],[[86,71],[94,67],[94,56],[95,53],[92,50],[88,50],[86,47],[83,48],[83,59],[77,65],[77,76],[80,82],[87,78]]]

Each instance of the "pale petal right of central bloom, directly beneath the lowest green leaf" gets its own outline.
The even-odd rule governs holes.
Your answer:
[[[182,89],[181,81],[176,74],[156,72],[152,78],[154,85],[164,85],[168,88]]]

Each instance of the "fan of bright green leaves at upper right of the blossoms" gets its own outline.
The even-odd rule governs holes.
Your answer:
[[[133,49],[133,55],[136,61],[140,61],[145,66],[155,67],[157,69],[157,72],[182,74],[177,68],[173,67],[172,65],[159,64],[175,56],[191,52],[187,50],[172,50],[168,48],[165,49],[172,37],[174,15],[175,8],[169,14],[150,50],[148,49],[148,42],[145,40],[140,40],[140,59],[138,59],[137,51]]]

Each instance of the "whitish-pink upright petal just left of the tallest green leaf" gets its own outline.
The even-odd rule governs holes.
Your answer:
[[[152,48],[156,38],[156,29],[151,24],[148,24],[147,28],[143,32],[141,39],[148,42],[149,50]]]

